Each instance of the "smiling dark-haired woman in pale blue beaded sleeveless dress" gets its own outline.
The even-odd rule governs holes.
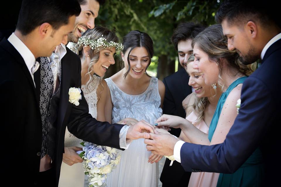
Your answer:
[[[162,115],[165,86],[146,72],[153,57],[153,41],[148,34],[135,30],[124,37],[122,44],[124,68],[105,79],[109,87],[106,120],[115,123],[131,117],[154,124]],[[162,156],[153,155],[145,146],[144,139],[138,139],[121,152],[119,165],[107,176],[107,186],[158,186],[157,162]]]

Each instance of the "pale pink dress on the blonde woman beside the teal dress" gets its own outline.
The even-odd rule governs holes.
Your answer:
[[[197,115],[192,111],[187,117],[186,120],[190,121],[197,129],[208,134],[209,127],[206,125],[204,120],[200,123],[196,123]],[[219,178],[219,173],[209,173],[209,172],[192,172],[188,187],[216,187],[217,179]]]

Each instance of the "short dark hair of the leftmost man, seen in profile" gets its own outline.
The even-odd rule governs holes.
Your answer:
[[[26,35],[47,22],[57,30],[80,12],[77,0],[23,0],[16,29]]]

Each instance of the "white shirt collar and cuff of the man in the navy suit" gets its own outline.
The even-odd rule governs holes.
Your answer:
[[[276,41],[281,39],[281,33],[277,34],[275,37],[273,37],[263,48],[261,51],[261,59],[263,59],[265,52],[268,50],[268,48]],[[178,162],[181,162],[181,146],[184,144],[184,141],[177,141],[177,143],[174,146],[174,158]]]

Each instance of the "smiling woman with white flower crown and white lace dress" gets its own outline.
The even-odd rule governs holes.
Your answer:
[[[109,66],[115,63],[114,54],[122,49],[122,44],[117,42],[118,38],[113,32],[104,27],[95,27],[85,32],[77,44],[69,43],[67,45],[81,59],[81,89],[89,105],[89,113],[99,121],[106,121],[104,107],[107,83],[102,77]],[[61,187],[88,186],[87,176],[80,163],[83,159],[76,153],[76,151],[82,150],[81,142],[82,140],[73,136],[66,128],[65,153],[59,179]]]

